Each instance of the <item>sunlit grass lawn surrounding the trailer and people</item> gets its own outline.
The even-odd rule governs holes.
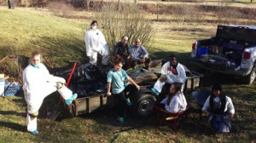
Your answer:
[[[74,14],[75,12],[73,12]],[[86,12],[78,12],[86,17]],[[90,16],[89,16],[90,17]],[[9,54],[29,56],[32,49],[49,55],[53,66],[65,66],[67,60],[82,63],[85,24],[90,20],[56,17],[47,10],[0,8],[0,57]],[[167,58],[170,53],[189,66],[191,44],[200,38],[212,37],[217,24],[154,22],[154,44],[149,49],[154,58]],[[238,118],[233,121],[230,134],[215,134],[207,123],[193,117],[181,121],[177,132],[154,125],[155,117],[132,117],[127,113],[120,125],[113,109],[92,112],[78,117],[63,114],[55,122],[46,119],[46,110],[57,103],[55,94],[44,100],[38,117],[37,136],[26,132],[26,102],[20,96],[0,97],[0,142],[255,142],[256,140],[256,84],[241,84],[239,78],[206,73],[203,88],[213,82],[223,83],[224,91],[233,100]],[[191,95],[186,95],[193,106]]]

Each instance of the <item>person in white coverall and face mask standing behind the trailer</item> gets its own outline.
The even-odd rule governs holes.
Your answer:
[[[97,21],[93,20],[90,29],[84,35],[86,55],[90,58],[90,64],[97,65],[97,53],[102,55],[102,65],[108,66],[110,52],[102,31],[97,29]]]

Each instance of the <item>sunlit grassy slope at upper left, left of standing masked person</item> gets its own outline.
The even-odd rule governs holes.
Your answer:
[[[0,9],[0,59],[38,49],[55,65],[84,55],[83,22],[35,9]]]

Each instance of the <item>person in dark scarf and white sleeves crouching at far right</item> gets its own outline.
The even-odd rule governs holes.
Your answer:
[[[212,85],[212,94],[207,98],[202,112],[208,116],[212,129],[220,133],[230,132],[235,108],[232,100],[224,94],[219,83]]]

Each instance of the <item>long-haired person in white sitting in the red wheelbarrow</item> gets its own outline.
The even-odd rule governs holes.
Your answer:
[[[181,92],[182,83],[172,83],[170,94],[160,102],[161,107],[165,107],[168,112],[181,112],[186,110],[187,100]]]

